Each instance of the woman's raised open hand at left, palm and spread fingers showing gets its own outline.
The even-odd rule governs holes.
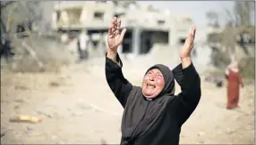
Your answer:
[[[108,49],[110,49],[113,52],[117,51],[117,47],[122,44],[124,39],[124,34],[126,32],[126,28],[124,28],[120,34],[120,26],[121,26],[121,20],[116,19],[116,17],[111,20],[111,25],[108,30],[107,35],[107,44]]]

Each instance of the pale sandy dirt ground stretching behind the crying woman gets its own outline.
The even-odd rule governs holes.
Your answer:
[[[60,73],[1,71],[1,143],[119,143],[123,109],[105,80],[105,60],[99,61],[98,67],[77,64]],[[124,75],[141,85],[146,69],[135,69],[124,68]],[[225,86],[217,88],[201,76],[201,90],[200,104],[183,125],[180,143],[253,144],[254,85],[241,89],[240,108],[234,110],[226,109]],[[43,121],[9,122],[18,114]]]

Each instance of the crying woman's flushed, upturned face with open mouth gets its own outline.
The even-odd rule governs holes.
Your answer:
[[[165,87],[165,79],[158,68],[153,68],[144,76],[142,93],[147,98],[155,98]]]

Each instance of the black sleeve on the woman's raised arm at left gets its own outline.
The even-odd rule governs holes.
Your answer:
[[[115,94],[115,97],[124,108],[129,93],[132,90],[132,84],[123,76],[123,63],[118,54],[116,56],[116,60],[120,65],[106,57],[105,75],[107,78],[107,84],[109,85],[111,91]]]

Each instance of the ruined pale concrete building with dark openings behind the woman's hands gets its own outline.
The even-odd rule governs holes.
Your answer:
[[[183,44],[192,27],[187,16],[174,16],[134,2],[86,1],[55,2],[52,28],[62,34],[84,32],[94,47],[106,43],[109,23],[122,19],[127,31],[120,52],[148,53],[154,44]]]

